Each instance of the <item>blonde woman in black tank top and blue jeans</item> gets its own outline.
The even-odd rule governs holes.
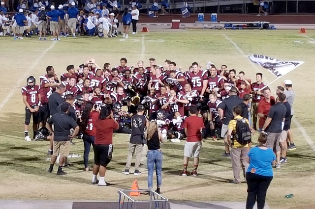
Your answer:
[[[146,139],[148,140],[148,154],[147,154],[147,166],[148,166],[148,188],[153,188],[153,172],[154,165],[156,166],[157,173],[157,190],[160,194],[160,187],[162,185],[162,151],[159,143],[163,142],[162,133],[158,130],[158,124],[156,121],[151,121],[146,132]]]

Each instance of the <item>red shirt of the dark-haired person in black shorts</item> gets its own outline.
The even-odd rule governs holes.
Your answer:
[[[95,144],[109,145],[113,144],[113,131],[118,128],[118,123],[113,119],[97,119],[95,121]]]

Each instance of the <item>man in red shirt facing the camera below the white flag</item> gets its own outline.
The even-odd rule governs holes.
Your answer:
[[[266,118],[268,116],[270,107],[276,104],[275,98],[271,96],[270,88],[266,87],[263,89],[264,99],[262,99],[257,107],[258,117],[259,117],[259,132],[261,131],[263,125],[265,124]]]

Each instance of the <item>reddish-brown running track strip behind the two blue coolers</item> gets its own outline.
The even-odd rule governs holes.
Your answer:
[[[158,16],[158,18],[148,18],[146,15],[141,15],[139,23],[171,23],[174,19],[181,20],[181,23],[194,23],[197,21],[197,14],[191,15],[189,18],[182,18],[182,15],[170,14]],[[210,21],[210,14],[205,14],[204,21]],[[219,14],[218,21],[266,21],[271,24],[315,24],[315,15],[239,15],[239,14]]]

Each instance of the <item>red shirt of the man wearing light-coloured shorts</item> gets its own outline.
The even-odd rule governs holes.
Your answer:
[[[201,141],[200,128],[205,128],[202,118],[197,115],[189,116],[185,120],[184,127],[187,129],[187,142]]]

